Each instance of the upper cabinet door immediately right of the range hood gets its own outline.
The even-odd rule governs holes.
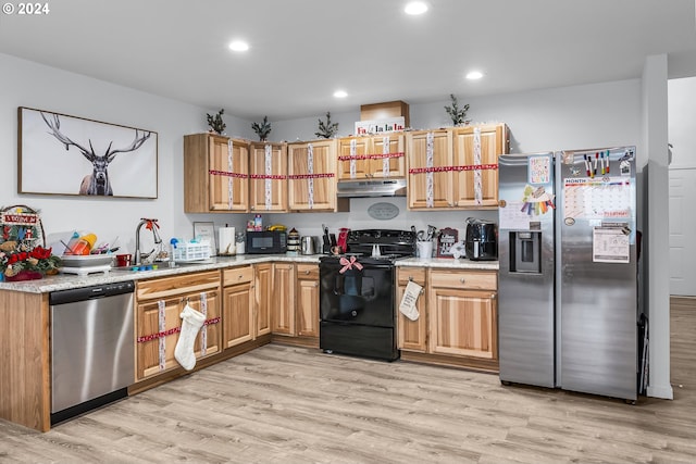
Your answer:
[[[432,154],[427,148],[428,134],[433,135]],[[409,209],[453,206],[451,133],[445,129],[408,133],[407,156]]]

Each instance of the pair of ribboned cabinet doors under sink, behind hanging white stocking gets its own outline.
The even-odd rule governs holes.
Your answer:
[[[220,299],[216,290],[206,292],[204,297],[200,293],[190,293],[139,303],[136,312],[138,380],[179,366],[174,358],[174,349],[179,337],[178,330],[182,327],[179,314],[187,302],[199,312],[206,308],[207,325],[198,333],[194,343],[196,358],[220,352],[222,329],[219,317]],[[160,306],[162,306],[163,317],[160,316]],[[160,322],[162,322],[162,326],[160,326]],[[162,355],[160,355],[160,347],[163,348]]]

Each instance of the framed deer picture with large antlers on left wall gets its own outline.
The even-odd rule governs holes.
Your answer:
[[[20,106],[20,193],[157,198],[157,133]]]

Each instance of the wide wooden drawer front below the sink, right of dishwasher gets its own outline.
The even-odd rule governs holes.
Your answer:
[[[138,301],[162,300],[184,293],[209,291],[220,287],[220,272],[210,271],[177,275],[175,277],[154,278],[136,281],[136,298]]]

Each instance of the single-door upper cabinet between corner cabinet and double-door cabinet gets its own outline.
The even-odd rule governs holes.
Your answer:
[[[287,211],[287,145],[249,146],[249,210]]]

